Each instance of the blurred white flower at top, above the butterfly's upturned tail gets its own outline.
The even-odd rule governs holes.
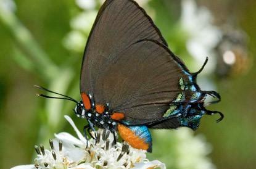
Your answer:
[[[181,3],[181,27],[189,36],[186,43],[188,52],[196,59],[197,69],[208,56],[209,64],[202,73],[212,72],[216,63],[213,49],[221,40],[221,31],[212,25],[213,17],[206,7],[197,7],[194,0],[183,0]]]

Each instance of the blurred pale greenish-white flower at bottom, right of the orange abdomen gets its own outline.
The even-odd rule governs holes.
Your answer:
[[[171,139],[170,154],[168,154],[168,167],[179,169],[215,169],[212,161],[207,157],[212,147],[204,139],[204,136],[194,136],[194,131],[189,128],[178,128],[178,130],[159,130],[155,132],[157,139],[162,141],[168,135]],[[161,155],[160,159],[165,159]]]

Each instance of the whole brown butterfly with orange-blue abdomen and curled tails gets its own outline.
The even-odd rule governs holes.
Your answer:
[[[75,101],[76,115],[88,121],[84,130],[118,131],[130,146],[152,152],[149,128],[196,130],[203,115],[218,113],[217,121],[223,119],[204,107],[207,95],[217,98],[209,104],[220,95],[196,83],[206,63],[190,73],[142,7],[132,0],[107,0],[85,47],[81,101],[65,99]]]

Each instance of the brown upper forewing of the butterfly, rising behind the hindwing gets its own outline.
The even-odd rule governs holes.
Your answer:
[[[107,0],[102,5],[86,44],[80,91],[93,93],[106,59],[110,61],[140,39],[154,39],[167,46],[144,9],[130,0]]]

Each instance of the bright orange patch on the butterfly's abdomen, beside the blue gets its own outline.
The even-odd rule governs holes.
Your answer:
[[[149,144],[147,144],[144,139],[136,136],[135,133],[130,130],[130,128],[126,127],[125,125],[118,124],[117,129],[122,139],[128,142],[132,147],[143,150],[149,149]]]

